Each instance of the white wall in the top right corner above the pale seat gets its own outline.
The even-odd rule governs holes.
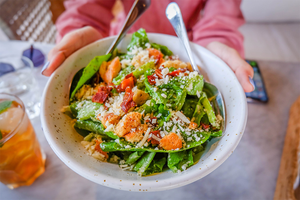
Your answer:
[[[243,0],[247,22],[300,22],[300,0]]]

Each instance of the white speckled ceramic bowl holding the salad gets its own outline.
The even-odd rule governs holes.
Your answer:
[[[188,61],[179,39],[165,34],[148,34],[150,42],[167,46],[183,61]],[[74,172],[104,186],[130,191],[160,191],[180,187],[208,175],[233,152],[243,135],[247,121],[246,97],[232,70],[207,49],[191,43],[194,59],[208,74],[210,82],[222,93],[226,105],[226,131],[212,140],[199,162],[187,170],[174,174],[170,170],[147,177],[136,172],[122,171],[116,164],[100,162],[87,155],[80,144],[83,137],[70,125],[71,118],[61,112],[69,103],[69,86],[74,74],[92,58],[105,54],[114,37],[91,43],[73,53],[50,77],[41,106],[43,130],[51,148]],[[122,52],[131,40],[126,35],[119,44]]]

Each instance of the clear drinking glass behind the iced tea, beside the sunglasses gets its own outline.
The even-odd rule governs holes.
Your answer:
[[[13,70],[8,73],[0,71],[0,92],[16,95],[26,108],[30,119],[40,115],[41,95],[38,84],[33,75],[32,61],[22,55],[8,55],[0,57],[1,68],[3,64],[10,65]]]

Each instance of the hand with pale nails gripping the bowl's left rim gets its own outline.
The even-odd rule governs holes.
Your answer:
[[[72,53],[102,38],[101,34],[91,26],[85,26],[66,34],[62,40],[50,50],[48,62],[42,69],[44,76],[50,76]]]

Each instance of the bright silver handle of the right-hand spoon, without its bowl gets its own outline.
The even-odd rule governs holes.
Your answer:
[[[170,3],[166,9],[166,16],[169,19],[170,23],[172,24],[185,50],[187,51],[187,55],[190,60],[190,64],[193,67],[193,70],[200,74],[200,71],[192,56],[192,50],[190,49],[190,43],[187,37],[187,31],[178,4],[176,4],[175,2]]]

